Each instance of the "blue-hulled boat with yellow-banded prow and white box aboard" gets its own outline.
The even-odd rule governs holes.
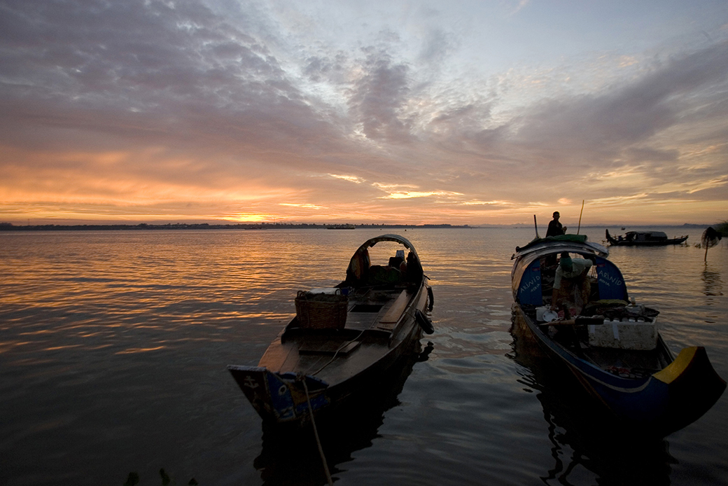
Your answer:
[[[555,256],[591,259],[591,294],[575,318],[546,322]],[[609,251],[585,235],[561,235],[516,248],[511,281],[514,321],[545,352],[565,364],[583,387],[633,428],[665,436],[700,418],[726,383],[705,348],[673,356],[657,330],[657,310],[630,305],[627,286]]]

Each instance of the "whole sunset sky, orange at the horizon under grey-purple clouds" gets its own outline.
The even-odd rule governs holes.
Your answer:
[[[0,222],[712,224],[728,2],[0,0]]]

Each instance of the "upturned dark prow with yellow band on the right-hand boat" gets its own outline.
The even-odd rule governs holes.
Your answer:
[[[726,382],[713,369],[703,346],[684,348],[675,361],[652,377],[668,388],[668,407],[662,420],[668,431],[695,422],[726,389]]]

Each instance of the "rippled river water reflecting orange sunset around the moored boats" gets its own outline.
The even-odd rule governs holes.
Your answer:
[[[510,256],[532,230],[395,232],[431,278],[435,334],[321,431],[337,485],[728,485],[727,396],[665,439],[631,436],[513,334]],[[705,263],[702,231],[682,232],[690,246],[610,259],[670,348],[705,345],[728,378],[727,246]],[[226,365],[257,364],[296,291],[341,281],[381,233],[1,232],[0,485],[159,485],[159,469],[176,485],[324,485],[312,437],[264,431]]]

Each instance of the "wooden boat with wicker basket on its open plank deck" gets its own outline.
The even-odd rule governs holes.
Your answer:
[[[372,265],[369,248],[383,242],[404,249]],[[300,425],[311,412],[327,415],[381,383],[423,330],[433,332],[425,315],[431,308],[432,289],[412,243],[398,235],[371,238],[338,286],[298,292],[296,317],[257,367],[228,369],[264,422]]]

